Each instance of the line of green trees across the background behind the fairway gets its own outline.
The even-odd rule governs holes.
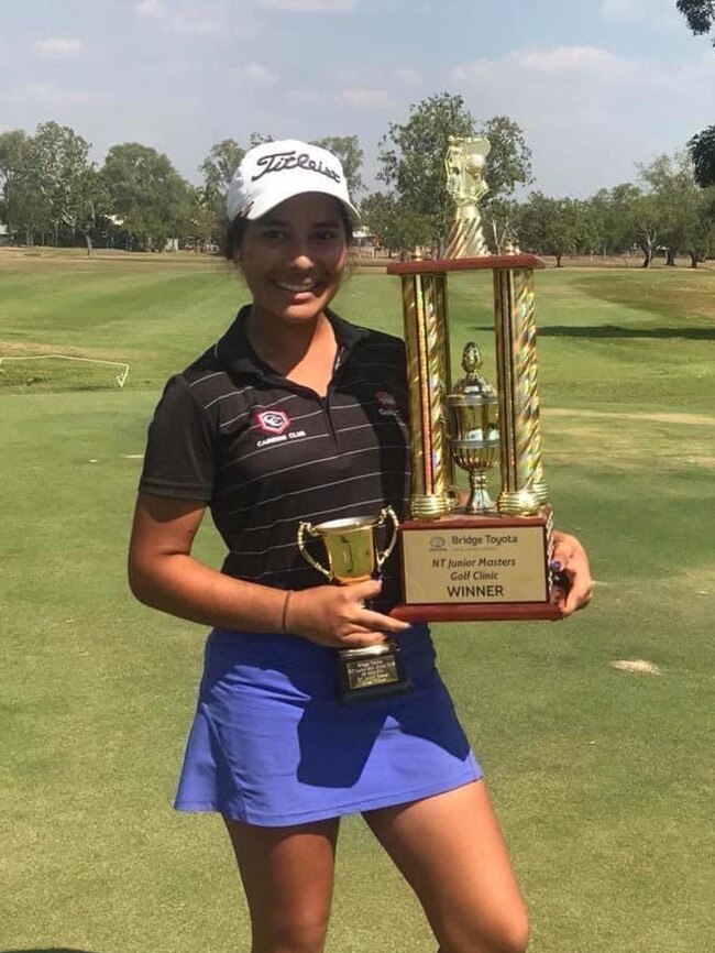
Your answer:
[[[705,131],[706,132],[706,131]],[[586,199],[532,191],[531,152],[519,125],[506,116],[479,121],[460,96],[442,92],[411,107],[404,123],[391,123],[380,142],[381,188],[369,195],[358,136],[317,144],[334,152],[345,169],[365,228],[391,254],[416,248],[430,256],[444,249],[453,207],[446,190],[449,135],[484,134],[492,149],[481,204],[485,237],[495,252],[507,245],[554,255],[619,254],[639,249],[644,266],[660,251],[668,264],[688,255],[693,266],[715,256],[715,176],[698,174],[702,135],[675,155],[638,167],[637,182],[600,189]],[[54,121],[34,134],[0,134],[0,221],[16,243],[84,243],[162,251],[168,239],[216,250],[226,227],[223,198],[245,150],[272,136],[253,133],[245,145],[216,143],[191,185],[169,158],[140,143],[113,145],[101,165],[73,129]],[[362,197],[361,197],[362,196]]]

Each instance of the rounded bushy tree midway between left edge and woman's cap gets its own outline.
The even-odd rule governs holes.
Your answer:
[[[113,145],[101,168],[113,216],[141,248],[161,251],[167,238],[196,229],[193,191],[166,155],[138,142]]]

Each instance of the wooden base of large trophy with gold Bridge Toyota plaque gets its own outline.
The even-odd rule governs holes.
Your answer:
[[[535,516],[447,516],[399,527],[405,622],[558,620],[549,507]]]

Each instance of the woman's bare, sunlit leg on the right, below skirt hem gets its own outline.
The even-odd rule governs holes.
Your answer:
[[[417,894],[440,953],[526,950],[526,909],[483,781],[364,817]]]

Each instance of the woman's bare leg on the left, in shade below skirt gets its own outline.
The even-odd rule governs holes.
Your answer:
[[[223,819],[251,913],[251,953],[321,953],[332,899],[338,818],[290,828]]]

